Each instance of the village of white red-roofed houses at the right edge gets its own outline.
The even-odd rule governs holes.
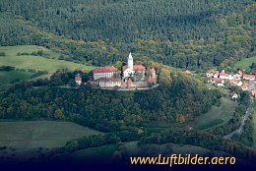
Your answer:
[[[256,97],[256,74],[244,74],[242,71],[237,73],[225,73],[224,71],[208,71],[205,75],[210,78],[209,83],[216,86],[224,86],[229,82],[231,86],[238,86],[242,90],[250,90],[252,95]],[[252,88],[249,88],[252,87]],[[238,95],[234,92],[230,94],[231,98],[237,98]]]

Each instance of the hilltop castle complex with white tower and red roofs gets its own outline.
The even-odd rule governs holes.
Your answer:
[[[114,66],[98,67],[93,71],[94,82],[100,87],[148,87],[157,83],[155,68],[151,69],[150,76],[146,76],[146,67],[134,65],[133,57],[130,53],[127,65],[122,66],[119,71]],[[95,84],[96,85],[96,84]]]

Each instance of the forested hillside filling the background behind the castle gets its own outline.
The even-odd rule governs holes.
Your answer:
[[[0,11],[0,45],[44,45],[96,65],[130,50],[183,68],[255,53],[253,0],[2,0]]]

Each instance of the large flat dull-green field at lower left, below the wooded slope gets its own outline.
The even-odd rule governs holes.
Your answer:
[[[71,122],[0,122],[0,146],[14,148],[52,148],[85,136],[100,134]]]

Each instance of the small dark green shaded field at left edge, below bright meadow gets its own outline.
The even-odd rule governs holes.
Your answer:
[[[29,80],[32,78],[32,73],[23,71],[0,71],[0,78],[0,85],[5,85],[17,80]]]

